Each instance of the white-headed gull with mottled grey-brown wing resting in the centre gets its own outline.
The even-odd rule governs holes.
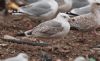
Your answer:
[[[24,34],[32,37],[64,37],[70,31],[69,19],[67,14],[59,13],[56,18],[40,23]]]

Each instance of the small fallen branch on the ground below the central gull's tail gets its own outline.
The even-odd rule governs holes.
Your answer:
[[[7,38],[9,37],[9,38]],[[3,41],[6,41],[6,42],[12,42],[12,43],[17,43],[17,44],[27,44],[27,45],[32,45],[32,46],[48,46],[49,44],[46,43],[46,42],[32,42],[30,40],[23,40],[23,39],[17,39],[15,37],[12,37],[12,36],[7,36],[4,37],[4,38],[1,38]]]

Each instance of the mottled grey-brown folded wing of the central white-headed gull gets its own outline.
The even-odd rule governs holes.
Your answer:
[[[45,24],[45,25],[44,25]],[[60,23],[55,21],[47,21],[45,23],[40,24],[36,28],[34,28],[34,32],[39,32],[45,35],[53,35],[63,30],[63,27]]]

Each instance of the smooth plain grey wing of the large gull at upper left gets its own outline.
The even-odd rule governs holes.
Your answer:
[[[51,11],[50,5],[47,3],[39,3],[37,5],[28,5],[28,6],[23,6],[21,9],[24,10],[24,13],[33,15],[33,16],[41,16],[42,14],[48,13]]]

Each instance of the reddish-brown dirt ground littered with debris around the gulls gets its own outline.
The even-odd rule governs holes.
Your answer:
[[[32,29],[38,23],[28,18],[18,20],[21,16],[2,16],[0,15],[0,37],[3,35],[14,35],[19,31],[26,31]],[[17,20],[16,20],[17,19]],[[73,61],[77,56],[92,55],[100,61],[100,54],[92,50],[92,47],[100,43],[100,37],[91,34],[90,32],[84,33],[83,39],[81,32],[71,30],[64,39],[38,39],[49,43],[49,46],[30,46],[25,44],[17,44],[5,42],[0,39],[0,59],[16,56],[18,53],[25,52],[31,58],[30,61],[39,61],[40,52],[45,51],[52,55],[53,61],[57,58],[63,61]]]

